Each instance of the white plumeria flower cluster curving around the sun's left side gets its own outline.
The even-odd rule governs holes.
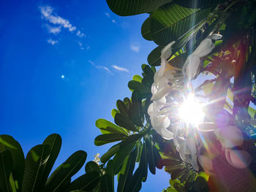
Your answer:
[[[236,126],[220,128],[215,123],[201,123],[197,128],[184,123],[178,114],[184,98],[187,97],[185,80],[193,80],[200,73],[200,58],[208,55],[214,49],[213,39],[219,39],[219,34],[211,34],[187,57],[183,69],[177,69],[167,62],[172,55],[171,42],[162,50],[161,66],[154,75],[154,83],[151,87],[153,101],[148,107],[148,115],[151,117],[151,125],[164,139],[173,139],[176,150],[181,159],[191,164],[195,170],[199,170],[197,162],[212,174],[212,161],[216,157],[216,147],[203,142],[203,135],[211,135],[221,143],[221,151],[225,152],[227,162],[235,168],[248,166],[252,158],[245,150],[234,150],[233,147],[243,145],[244,137]],[[203,132],[203,134],[201,134]],[[206,133],[207,132],[207,133]],[[231,133],[231,134],[230,134]],[[208,135],[207,135],[208,134]],[[209,139],[211,140],[211,139]],[[207,145],[207,146],[206,146]]]

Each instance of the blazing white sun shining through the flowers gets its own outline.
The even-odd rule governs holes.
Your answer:
[[[205,117],[203,105],[200,104],[192,94],[187,97],[178,109],[178,115],[181,120],[192,126],[198,126],[200,123],[203,123]]]

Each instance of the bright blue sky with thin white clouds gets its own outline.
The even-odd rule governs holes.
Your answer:
[[[119,17],[100,1],[1,1],[0,130],[24,153],[49,134],[63,139],[56,165],[96,147],[95,120],[113,121],[117,99],[156,47],[140,34],[147,15]],[[79,172],[82,174],[82,172]],[[148,175],[141,191],[162,191],[170,176]]]

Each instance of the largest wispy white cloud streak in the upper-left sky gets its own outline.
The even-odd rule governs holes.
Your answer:
[[[66,20],[64,18],[61,18],[59,15],[56,15],[55,12],[53,12],[53,8],[50,6],[42,6],[39,7],[42,18],[45,20],[48,20],[49,23],[52,23],[54,25],[59,25],[64,28],[68,28],[69,31],[75,31],[76,27],[72,26],[71,23],[69,23],[69,20]]]

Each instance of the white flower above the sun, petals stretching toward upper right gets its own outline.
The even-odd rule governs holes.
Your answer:
[[[182,69],[184,76],[187,76],[189,80],[193,80],[198,76],[200,73],[200,58],[208,55],[214,49],[215,44],[212,42],[212,39],[220,38],[222,38],[220,34],[211,34],[200,42],[200,45],[198,45],[195,51],[185,61]]]

